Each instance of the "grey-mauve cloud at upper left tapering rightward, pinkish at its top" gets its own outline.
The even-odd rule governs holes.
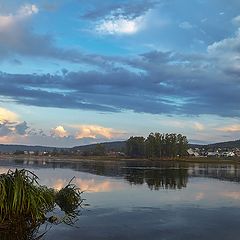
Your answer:
[[[15,14],[0,15],[0,60],[19,55],[44,58],[45,60],[57,59],[84,66],[112,64],[108,57],[84,54],[77,49],[58,47],[53,35],[34,32],[31,19],[38,11],[36,5],[23,5]]]

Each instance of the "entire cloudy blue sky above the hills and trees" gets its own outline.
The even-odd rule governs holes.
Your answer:
[[[0,0],[0,143],[240,138],[239,0]]]

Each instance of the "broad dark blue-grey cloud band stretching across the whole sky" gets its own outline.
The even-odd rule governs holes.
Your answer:
[[[240,86],[216,54],[153,51],[116,61],[124,67],[64,75],[1,73],[0,95],[42,107],[240,116]]]

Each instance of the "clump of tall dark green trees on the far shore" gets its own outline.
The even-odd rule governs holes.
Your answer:
[[[187,137],[176,133],[150,133],[147,138],[132,136],[126,142],[130,157],[176,158],[186,156],[187,149]]]

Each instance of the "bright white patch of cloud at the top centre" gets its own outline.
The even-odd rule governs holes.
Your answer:
[[[143,26],[143,17],[128,19],[124,16],[111,16],[101,20],[96,31],[100,34],[134,34]]]

